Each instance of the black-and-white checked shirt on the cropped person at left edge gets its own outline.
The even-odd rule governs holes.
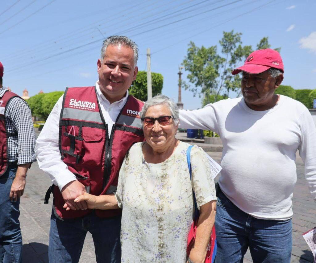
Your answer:
[[[6,87],[0,88],[0,98],[6,91]],[[17,161],[18,165],[32,163],[35,160],[35,132],[31,110],[23,99],[10,99],[5,123],[8,133],[18,134],[8,138],[8,161]]]

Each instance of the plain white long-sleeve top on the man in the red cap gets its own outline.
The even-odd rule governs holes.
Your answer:
[[[259,219],[292,217],[295,153],[316,198],[316,128],[308,109],[280,95],[267,111],[253,111],[243,98],[180,111],[180,127],[213,130],[223,143],[220,187],[243,212]]]

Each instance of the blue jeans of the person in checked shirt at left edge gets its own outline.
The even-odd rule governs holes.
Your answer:
[[[21,262],[22,236],[20,229],[20,199],[10,201],[10,190],[16,167],[9,166],[0,176],[0,262]]]

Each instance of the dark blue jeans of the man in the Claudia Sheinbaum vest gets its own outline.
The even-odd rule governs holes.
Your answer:
[[[93,237],[99,262],[121,261],[121,216],[99,218],[94,212],[82,218],[62,221],[52,211],[49,232],[49,262],[78,262],[87,232]]]

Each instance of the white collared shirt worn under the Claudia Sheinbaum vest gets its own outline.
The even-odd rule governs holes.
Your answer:
[[[108,134],[110,136],[116,118],[127,101],[128,91],[124,98],[110,104],[101,93],[99,81],[95,83],[95,87],[101,112],[108,125]],[[49,174],[52,183],[57,185],[60,191],[67,183],[76,180],[76,176],[68,170],[68,166],[61,160],[58,147],[59,117],[62,107],[63,96],[58,99],[48,116],[35,146],[36,159],[40,169]]]

